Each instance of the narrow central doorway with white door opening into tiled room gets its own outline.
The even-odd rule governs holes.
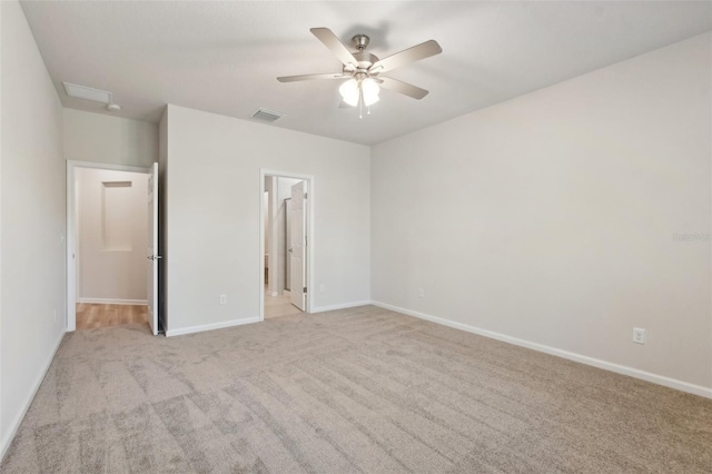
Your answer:
[[[309,313],[314,178],[260,171],[260,319]]]

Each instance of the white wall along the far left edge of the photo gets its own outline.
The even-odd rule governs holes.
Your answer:
[[[0,2],[0,454],[65,333],[61,105],[18,2]]]

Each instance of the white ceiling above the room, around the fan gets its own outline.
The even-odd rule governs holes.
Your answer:
[[[126,118],[158,121],[166,103],[373,145],[580,76],[712,29],[708,1],[606,2],[58,2],[24,1],[44,62],[61,81],[113,92]],[[346,45],[370,37],[384,58],[435,39],[443,53],[386,75],[428,89],[423,100],[384,90],[372,115],[337,108],[339,81],[278,76],[338,72],[309,32]]]

